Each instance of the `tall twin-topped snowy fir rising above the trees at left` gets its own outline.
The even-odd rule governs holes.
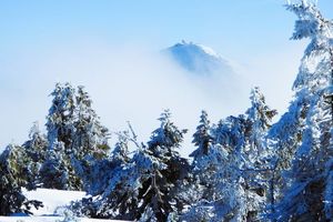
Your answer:
[[[108,129],[100,123],[83,87],[75,90],[70,83],[57,83],[51,95],[53,100],[46,124],[49,148],[43,169],[47,169],[46,165],[50,168],[54,160],[59,160],[59,165],[51,168],[62,169],[62,172],[58,172],[62,175],[65,172],[67,175],[60,180],[63,182],[61,186],[68,190],[82,190],[83,182],[90,180],[87,176],[91,175],[94,161],[108,155],[110,150]],[[58,153],[54,153],[54,150]],[[41,175],[48,176],[47,173],[48,171],[43,170]],[[54,173],[52,172],[50,176],[52,178]],[[41,180],[46,182],[48,179]]]

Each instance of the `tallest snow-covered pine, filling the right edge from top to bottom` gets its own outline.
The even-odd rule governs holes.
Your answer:
[[[294,158],[285,173],[290,182],[274,215],[280,221],[329,221],[332,219],[333,190],[330,99],[333,24],[322,17],[315,3],[306,0],[287,4],[287,10],[299,17],[293,39],[309,38],[311,42],[294,82],[295,99],[291,105],[297,108],[294,113],[301,113],[293,122],[302,122],[303,127],[297,129],[299,139],[291,153]],[[285,124],[283,121],[280,124]]]

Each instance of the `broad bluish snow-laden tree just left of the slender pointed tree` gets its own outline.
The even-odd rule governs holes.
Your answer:
[[[202,200],[191,206],[181,220],[246,220],[246,196],[242,179],[241,151],[245,144],[245,117],[229,117],[211,130],[213,141],[208,155],[196,159],[200,172],[208,172]],[[204,176],[202,176],[204,180]],[[209,218],[202,218],[206,216]]]

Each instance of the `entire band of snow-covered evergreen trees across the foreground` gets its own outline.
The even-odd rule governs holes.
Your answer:
[[[85,191],[68,208],[78,216],[130,221],[330,221],[333,219],[333,22],[309,1],[292,39],[310,43],[289,110],[259,88],[242,114],[211,123],[202,111],[193,152],[180,155],[186,130],[169,110],[147,142],[129,124],[114,145],[83,87],[58,83],[47,132],[36,123],[22,144],[0,155],[0,215],[29,213],[42,202],[22,188]],[[153,117],[152,117],[153,118]],[[194,120],[195,121],[195,120]]]

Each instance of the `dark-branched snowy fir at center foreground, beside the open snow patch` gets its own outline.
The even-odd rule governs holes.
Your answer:
[[[169,111],[161,114],[160,121],[161,127],[153,131],[148,145],[139,145],[131,160],[125,155],[130,137],[120,138],[112,152],[118,167],[113,168],[102,193],[81,202],[82,214],[141,221],[145,218],[167,221],[170,213],[176,216],[174,214],[183,208],[178,185],[190,170],[188,161],[176,151],[184,131],[170,121]]]

